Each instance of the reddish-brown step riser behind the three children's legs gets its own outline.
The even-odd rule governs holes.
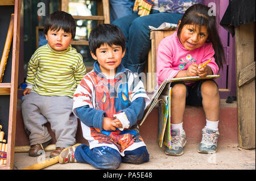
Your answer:
[[[237,143],[238,131],[237,131],[237,106],[236,102],[232,104],[225,103],[224,99],[221,99],[220,109],[220,122],[219,122],[219,144],[226,142]],[[22,115],[20,106],[17,107],[17,121],[16,121],[16,140],[15,146],[27,146],[29,145],[28,137],[24,131],[24,125],[22,121]],[[51,131],[50,125],[47,123],[49,133],[53,137],[51,144],[55,144],[55,134]],[[198,143],[201,141],[201,129],[205,126],[205,114],[203,107],[187,106],[184,113],[183,128],[187,134],[187,141],[190,143]],[[158,135],[158,108],[154,108],[150,115],[139,128],[143,140],[146,144],[152,144],[156,142]],[[82,137],[81,125],[79,122],[76,134],[77,142],[82,144],[88,144],[88,142]]]

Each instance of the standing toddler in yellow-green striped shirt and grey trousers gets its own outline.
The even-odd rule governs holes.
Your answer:
[[[22,116],[31,148],[29,155],[43,153],[55,133],[55,157],[76,143],[77,118],[73,115],[73,94],[86,73],[80,53],[71,47],[76,23],[71,14],[55,11],[44,23],[48,43],[39,47],[28,62],[27,87],[23,92]]]

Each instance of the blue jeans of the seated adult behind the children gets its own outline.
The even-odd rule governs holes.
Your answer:
[[[144,71],[151,47],[148,26],[159,27],[164,22],[177,24],[182,16],[183,14],[179,13],[151,10],[151,14],[147,16],[131,14],[115,20],[112,24],[121,28],[125,34],[126,53],[122,58],[125,68],[137,73]]]

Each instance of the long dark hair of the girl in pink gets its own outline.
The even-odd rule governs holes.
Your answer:
[[[212,43],[215,52],[215,61],[217,65],[222,68],[226,62],[225,53],[216,27],[216,16],[209,15],[209,9],[210,7],[200,3],[189,7],[181,19],[180,25],[177,29],[177,36],[180,37],[181,30],[186,24],[198,25],[200,26],[199,30],[201,29],[201,26],[206,26],[209,33],[208,40],[206,42]]]

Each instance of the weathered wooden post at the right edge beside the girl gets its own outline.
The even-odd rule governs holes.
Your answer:
[[[238,146],[255,148],[255,23],[235,28]],[[253,38],[254,37],[254,38]]]

